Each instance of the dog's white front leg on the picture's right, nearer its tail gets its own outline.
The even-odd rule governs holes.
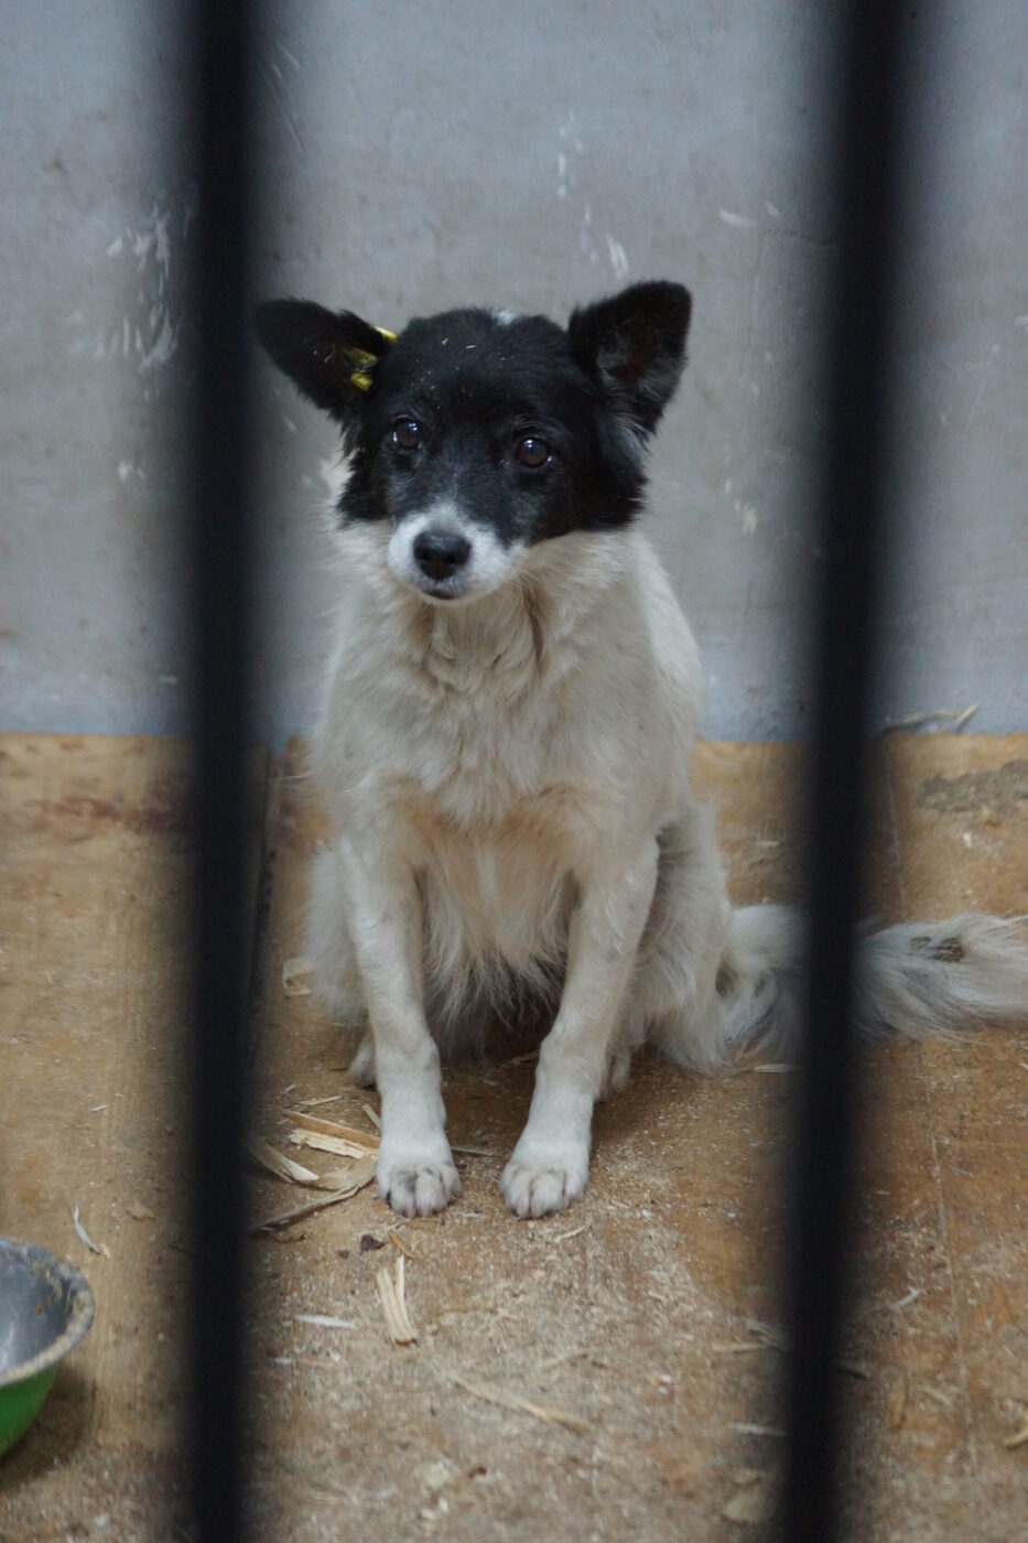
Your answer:
[[[546,1216],[576,1200],[590,1176],[593,1105],[636,961],[656,884],[656,841],[628,863],[591,875],[568,934],[560,1011],[539,1051],[536,1091],[509,1163],[503,1199],[519,1216]]]

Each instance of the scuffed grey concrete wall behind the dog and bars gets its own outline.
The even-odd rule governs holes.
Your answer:
[[[184,724],[174,406],[188,390],[171,8],[0,5],[0,725]],[[911,8],[920,88],[895,339],[900,542],[880,717],[1028,727],[1028,12]],[[695,296],[650,528],[699,636],[705,730],[806,725],[815,361],[834,231],[829,0],[272,3],[267,293],[381,324],[557,316],[645,276]],[[310,722],[333,435],[259,380],[261,728]]]

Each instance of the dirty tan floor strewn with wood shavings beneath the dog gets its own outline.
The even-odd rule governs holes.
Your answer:
[[[784,745],[699,753],[739,901],[796,893],[798,770]],[[253,775],[256,1129],[323,1173],[352,1159],[290,1145],[286,1111],[374,1142],[375,1099],[349,1085],[347,1043],[313,998],[282,986],[320,830],[303,753],[255,758]],[[0,1538],[165,1543],[187,1535],[184,748],[9,734],[0,776],[0,1230],[71,1258],[97,1298],[0,1463]],[[883,920],[1028,910],[1028,736],[884,742],[874,835]],[[759,1537],[746,1517],[773,1498],[781,1447],[790,1071],[758,1058],[704,1080],[645,1058],[597,1114],[583,1202],[534,1224],[497,1188],[531,1079],[512,1045],[448,1072],[466,1151],[445,1216],[401,1222],[369,1187],[253,1241],[265,1543]],[[877,1048],[861,1102],[847,1537],[1013,1543],[1028,1514],[1028,1441],[1008,1444],[1028,1410],[1028,1035]],[[255,1213],[318,1193],[256,1176]],[[401,1258],[406,1345],[377,1285]]]

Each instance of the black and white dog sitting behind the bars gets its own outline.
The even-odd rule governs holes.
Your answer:
[[[661,282],[566,327],[469,309],[395,338],[309,301],[258,310],[347,452],[316,734],[335,835],[310,952],[333,1014],[364,1028],[378,1187],[407,1216],[460,1191],[440,1048],[529,1009],[553,1018],[502,1179],[512,1211],[543,1216],[582,1194],[593,1103],[644,1040],[710,1069],[795,1026],[800,920],[729,904],[688,782],[699,654],[636,525],[688,318],[688,293]],[[1026,1004],[1016,923],[867,941],[867,1031],[1023,1020]]]

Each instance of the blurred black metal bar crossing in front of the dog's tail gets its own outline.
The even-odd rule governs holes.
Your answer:
[[[838,29],[840,247],[826,360],[807,1003],[793,1148],[787,1457],[779,1535],[827,1543],[854,1168],[854,934],[863,878],[864,731],[884,537],[888,350],[895,292],[901,8],[854,3]]]

